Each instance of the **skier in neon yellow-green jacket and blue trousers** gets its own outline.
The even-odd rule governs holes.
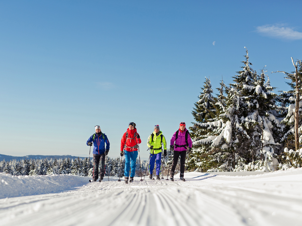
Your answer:
[[[148,137],[147,145],[150,148],[150,163],[148,167],[149,178],[153,179],[152,173],[156,162],[156,179],[160,180],[160,174],[162,172],[162,144],[164,145],[164,157],[167,156],[167,142],[159,131],[159,125],[154,126],[154,131]]]

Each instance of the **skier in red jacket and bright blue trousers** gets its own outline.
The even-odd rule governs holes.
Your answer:
[[[137,144],[142,143],[140,140],[140,135],[137,133],[135,126],[136,125],[134,122],[130,122],[127,132],[124,133],[122,140],[120,141],[120,156],[125,154],[124,176],[126,184],[128,184],[130,168],[130,182],[133,181],[133,177],[135,176],[136,158],[138,155]]]

